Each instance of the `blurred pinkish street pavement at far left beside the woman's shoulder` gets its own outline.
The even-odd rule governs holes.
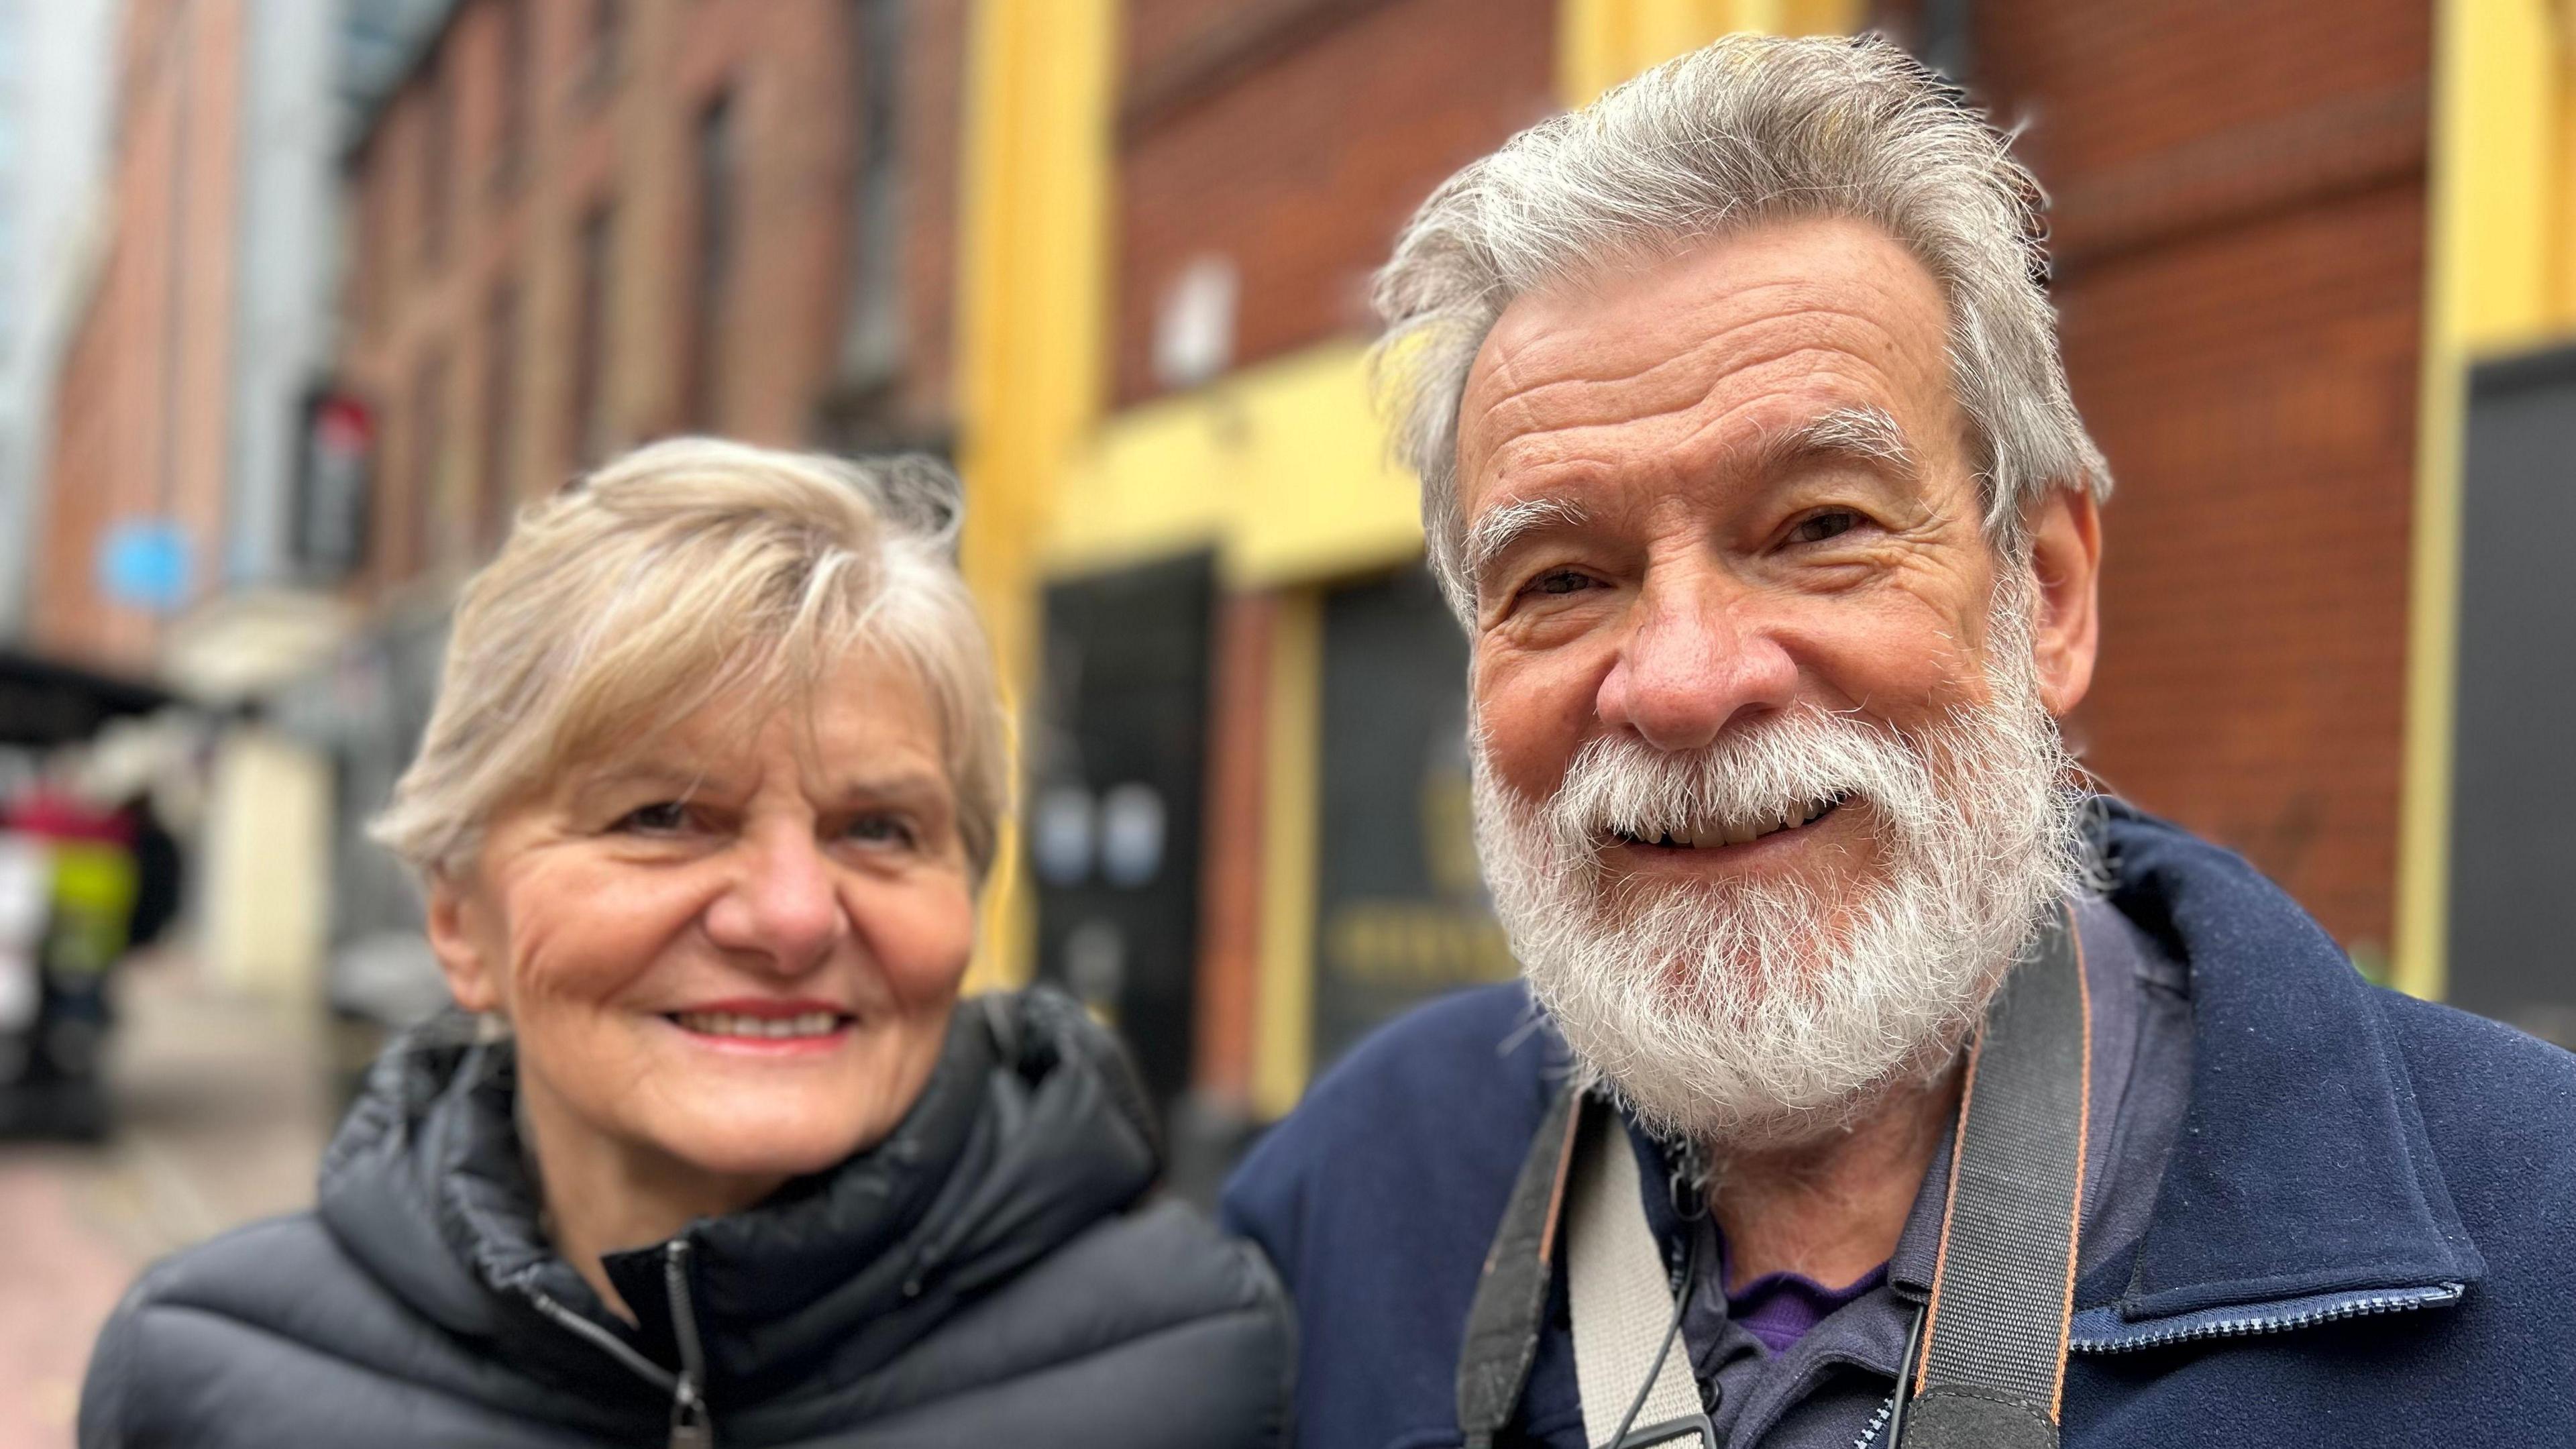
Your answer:
[[[103,1147],[0,1142],[0,1449],[64,1449],[98,1325],[173,1248],[312,1204],[330,1129],[312,1008],[131,962]]]

